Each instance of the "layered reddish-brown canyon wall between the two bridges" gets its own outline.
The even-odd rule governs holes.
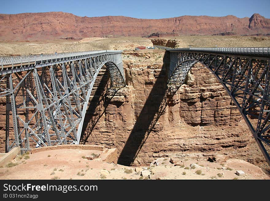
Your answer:
[[[230,96],[205,67],[195,65],[173,94],[162,63],[129,59],[124,68],[127,87],[106,94],[101,84],[101,98],[90,103],[96,108],[84,121],[81,143],[116,147],[123,165],[149,164],[156,157],[207,160],[215,154],[264,162]]]

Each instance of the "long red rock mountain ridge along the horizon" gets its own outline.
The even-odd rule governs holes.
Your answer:
[[[0,14],[1,40],[44,40],[106,35],[147,36],[169,32],[175,35],[269,35],[270,19],[260,14],[250,18],[181,16],[164,19],[137,19],[123,16],[79,17],[71,13]]]

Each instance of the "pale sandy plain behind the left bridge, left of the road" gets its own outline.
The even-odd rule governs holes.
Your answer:
[[[137,46],[152,46],[150,39],[141,37],[86,38],[76,40],[0,41],[0,56],[50,54],[89,50],[134,50]]]

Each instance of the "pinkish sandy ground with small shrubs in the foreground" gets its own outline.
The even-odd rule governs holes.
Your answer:
[[[12,162],[18,165],[0,168],[0,179],[270,179],[269,173],[239,159],[208,162],[205,158],[184,158],[174,164],[170,158],[159,158],[158,166],[134,168],[82,158],[98,152],[61,149],[29,154],[29,159],[17,156]],[[236,170],[245,175],[237,176]],[[145,172],[143,176],[141,171]]]

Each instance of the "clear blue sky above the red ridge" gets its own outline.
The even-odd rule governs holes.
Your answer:
[[[128,16],[160,19],[183,15],[251,17],[253,13],[270,18],[270,0],[0,0],[0,13],[39,13],[62,11],[78,16]]]

